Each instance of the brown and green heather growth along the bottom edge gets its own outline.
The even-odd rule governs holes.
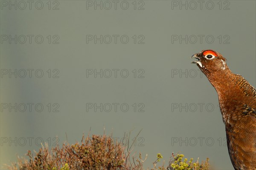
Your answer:
[[[139,135],[139,133],[138,133]],[[138,136],[137,135],[137,136]],[[127,135],[130,139],[130,134]],[[137,138],[136,136],[136,138]],[[129,143],[129,142],[128,142]],[[192,163],[192,159],[184,161],[182,154],[172,155],[169,166],[157,167],[157,163],[163,156],[158,153],[153,168],[143,167],[147,155],[138,158],[135,153],[131,156],[134,143],[123,146],[120,142],[114,141],[111,136],[92,135],[82,136],[81,144],[63,144],[62,147],[49,147],[42,145],[38,153],[33,156],[28,151],[28,158],[19,158],[17,163],[8,166],[10,170],[208,170],[208,159],[203,164],[198,161]],[[164,162],[164,161],[163,161]]]

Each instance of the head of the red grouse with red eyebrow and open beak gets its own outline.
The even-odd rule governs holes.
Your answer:
[[[192,61],[191,63],[196,63],[201,71],[205,74],[222,72],[228,69],[226,59],[220,53],[215,52],[211,49],[203,50],[195,55],[192,55],[191,58],[195,58],[198,60]]]

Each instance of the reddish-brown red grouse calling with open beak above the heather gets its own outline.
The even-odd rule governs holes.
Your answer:
[[[191,58],[218,93],[226,127],[227,147],[235,170],[256,170],[256,89],[230,71],[226,59],[213,50]]]

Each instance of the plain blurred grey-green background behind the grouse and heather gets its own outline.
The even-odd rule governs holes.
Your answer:
[[[1,1],[2,2],[2,1]],[[9,2],[9,1],[7,1]],[[12,1],[15,3],[15,1]],[[81,141],[82,133],[87,134],[91,127],[91,134],[107,135],[113,133],[116,138],[122,138],[125,132],[133,130],[135,137],[141,130],[134,150],[143,156],[148,154],[146,167],[153,167],[157,153],[163,155],[167,166],[172,152],[183,153],[186,158],[210,158],[212,169],[233,170],[225,146],[225,130],[221,113],[218,108],[218,96],[215,89],[189,57],[202,49],[214,49],[227,58],[230,69],[246,78],[250,84],[256,86],[256,2],[254,0],[211,1],[214,8],[206,7],[204,1],[202,9],[199,3],[192,10],[193,4],[185,9],[172,6],[168,0],[137,1],[144,10],[134,10],[133,2],[127,1],[129,8],[95,10],[82,0],[58,1],[58,10],[52,10],[57,3],[52,1],[51,9],[47,2],[41,1],[44,8],[11,10],[8,6],[1,6],[0,34],[1,35],[42,35],[44,42],[21,44],[14,41],[11,44],[3,41],[0,44],[1,69],[42,69],[44,76],[36,78],[28,75],[25,78],[9,78],[3,75],[0,81],[1,103],[41,103],[42,112],[0,112],[0,136],[15,140],[33,137],[29,146],[27,139],[25,146],[18,142],[1,143],[0,168],[3,164],[16,161],[16,154],[24,156],[27,150],[38,150],[35,138],[42,138],[44,142],[55,141],[62,144],[67,138],[69,143]],[[95,1],[92,1],[95,3]],[[109,1],[111,2],[111,1]],[[180,3],[181,1],[177,1]],[[194,1],[197,2],[197,1]],[[53,4],[54,3],[54,4]],[[97,1],[100,3],[100,1]],[[103,1],[102,1],[103,3]],[[182,1],[186,3],[186,1]],[[187,1],[189,5],[189,1]],[[21,4],[22,5],[22,4]],[[107,4],[106,4],[107,5]],[[113,3],[112,3],[113,5]],[[208,4],[208,7],[211,7]],[[228,5],[228,10],[224,6]],[[108,6],[107,6],[108,7]],[[173,7],[173,9],[172,9]],[[48,35],[58,35],[58,44],[48,43]],[[95,44],[86,43],[86,35],[127,35],[129,42]],[[144,44],[133,42],[133,35],[143,35]],[[172,43],[172,35],[204,35],[202,43]],[[214,42],[205,40],[207,35],[214,37]],[[222,41],[219,42],[218,36]],[[224,43],[224,36],[230,37]],[[53,40],[53,39],[52,39]],[[138,39],[137,39],[138,41]],[[48,78],[48,69],[58,69],[59,78]],[[114,78],[86,77],[86,69],[127,69],[128,78],[117,75]],[[132,70],[143,69],[145,78],[133,78]],[[174,71],[186,72],[187,75],[174,75]],[[195,72],[196,71],[196,72]],[[196,73],[196,75],[195,75]],[[58,103],[60,112],[49,112],[48,103]],[[86,103],[126,103],[127,112],[120,109],[114,112],[86,112]],[[145,112],[134,112],[132,104],[143,103]],[[173,109],[172,104],[190,105],[186,109]],[[204,104],[200,110],[198,103]],[[193,107],[197,105],[197,108]],[[206,105],[210,105],[206,108]],[[214,106],[212,109],[211,106]],[[120,106],[120,105],[119,105]],[[139,107],[137,107],[138,109]],[[173,143],[173,139],[186,142]],[[200,139],[202,146],[200,146]],[[213,139],[214,143],[207,138]],[[195,140],[197,143],[194,145]],[[221,144],[220,141],[221,140]],[[142,142],[144,146],[139,146]],[[20,141],[20,143],[23,143]],[[40,143],[40,141],[38,142]],[[210,146],[212,145],[212,146]],[[221,145],[221,146],[220,146]],[[162,164],[162,161],[159,165]]]

